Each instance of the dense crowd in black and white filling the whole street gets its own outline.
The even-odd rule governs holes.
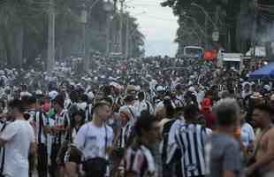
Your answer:
[[[274,175],[271,81],[192,58],[0,70],[0,174]]]

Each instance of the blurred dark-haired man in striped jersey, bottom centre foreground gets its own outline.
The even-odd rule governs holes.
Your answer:
[[[156,161],[152,150],[159,141],[156,118],[148,112],[141,113],[135,124],[136,141],[126,150],[123,164],[126,177],[156,177]]]

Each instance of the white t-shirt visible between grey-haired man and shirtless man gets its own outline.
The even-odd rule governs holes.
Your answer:
[[[250,142],[255,141],[253,127],[251,127],[248,123],[244,123],[243,126],[240,128],[240,140],[245,148],[247,148]]]

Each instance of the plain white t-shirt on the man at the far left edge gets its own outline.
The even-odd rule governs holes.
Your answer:
[[[26,120],[15,120],[4,128],[1,138],[6,140],[4,175],[28,177],[28,154],[35,142],[34,129]]]

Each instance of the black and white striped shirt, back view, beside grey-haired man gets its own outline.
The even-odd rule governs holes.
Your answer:
[[[184,177],[206,175],[205,143],[211,130],[198,124],[185,124],[176,132],[175,141],[182,154]]]

